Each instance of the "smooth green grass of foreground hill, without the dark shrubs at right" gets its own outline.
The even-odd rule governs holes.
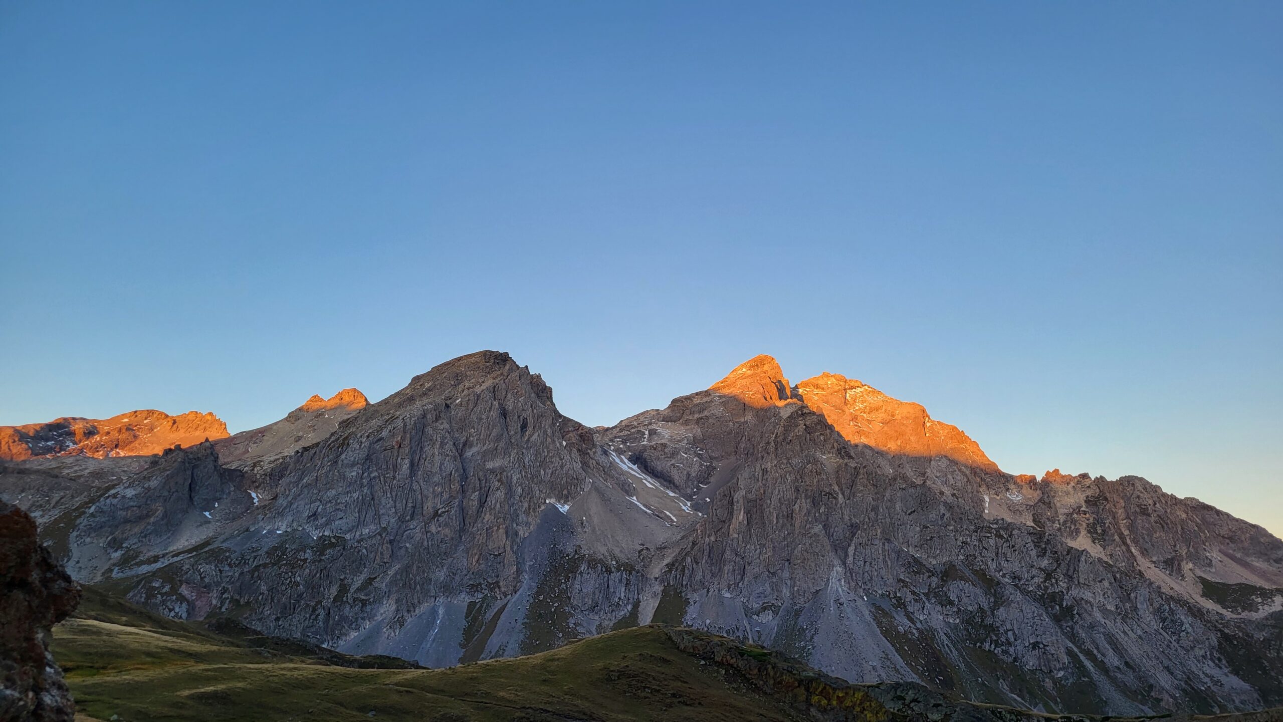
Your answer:
[[[656,627],[450,669],[359,669],[96,601],[58,626],[54,655],[99,719],[801,719]]]

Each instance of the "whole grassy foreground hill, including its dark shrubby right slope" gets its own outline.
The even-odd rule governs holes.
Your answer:
[[[917,685],[848,685],[761,648],[663,626],[423,669],[264,637],[226,621],[177,622],[86,589],[74,618],[55,628],[53,650],[81,718],[119,722],[1055,718],[951,700]]]

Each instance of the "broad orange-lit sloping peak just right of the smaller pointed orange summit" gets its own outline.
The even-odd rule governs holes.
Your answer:
[[[948,457],[970,467],[998,471],[958,427],[935,421],[921,404],[901,401],[854,378],[821,373],[797,385],[797,394],[847,441],[890,454]]]

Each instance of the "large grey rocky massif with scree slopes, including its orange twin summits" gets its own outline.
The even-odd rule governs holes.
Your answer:
[[[231,440],[10,464],[0,496],[78,578],[352,654],[448,666],[657,621],[1020,707],[1283,703],[1278,539],[1137,477],[1006,474],[840,376],[757,357],[591,430],[482,351],[313,428],[236,469]]]

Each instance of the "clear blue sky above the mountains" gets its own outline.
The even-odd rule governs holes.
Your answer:
[[[758,353],[1283,533],[1283,3],[5,3],[0,423]]]

